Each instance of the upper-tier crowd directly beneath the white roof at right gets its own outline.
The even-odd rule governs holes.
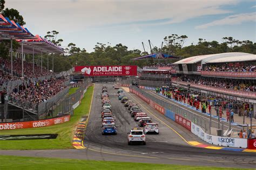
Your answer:
[[[255,72],[255,64],[221,64],[221,65],[210,65],[203,68],[204,71],[225,71],[225,72]]]

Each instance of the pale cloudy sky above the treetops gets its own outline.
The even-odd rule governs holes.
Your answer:
[[[223,37],[256,42],[256,1],[253,0],[8,0],[33,35],[59,32],[63,47],[75,43],[92,52],[96,43],[122,43],[129,50],[150,51],[165,36],[186,35],[222,42]]]

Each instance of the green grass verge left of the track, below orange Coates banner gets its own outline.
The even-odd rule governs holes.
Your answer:
[[[82,115],[89,113],[93,87],[89,87],[81,104],[74,110],[71,120],[64,124],[48,127],[4,130],[0,134],[46,134],[57,133],[56,139],[9,140],[0,141],[0,149],[68,149],[72,147],[73,133]]]

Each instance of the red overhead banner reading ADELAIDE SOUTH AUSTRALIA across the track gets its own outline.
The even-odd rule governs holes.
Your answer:
[[[137,66],[75,66],[75,72],[85,76],[137,76]]]

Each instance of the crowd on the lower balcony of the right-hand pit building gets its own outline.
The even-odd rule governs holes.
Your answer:
[[[188,83],[194,83],[198,85],[206,85],[206,86],[212,86],[212,87],[220,87],[223,89],[231,89],[231,90],[240,90],[240,91],[249,91],[249,92],[255,92],[256,86],[253,84],[247,84],[247,83],[238,83],[239,81],[232,82],[227,80],[206,80],[204,78],[188,78],[188,77],[178,77],[177,80],[186,81]]]

